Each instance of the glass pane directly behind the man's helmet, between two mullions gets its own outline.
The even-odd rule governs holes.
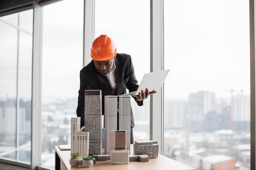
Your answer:
[[[144,73],[150,72],[150,2],[95,0],[95,38],[102,34],[115,41],[117,53],[131,55],[140,83]],[[144,106],[131,99],[131,105],[134,139],[149,140],[150,99],[144,100]]]

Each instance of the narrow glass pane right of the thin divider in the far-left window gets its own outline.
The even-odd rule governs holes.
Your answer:
[[[30,10],[28,20],[33,21]],[[31,28],[32,25],[28,24]],[[28,28],[29,28],[28,27]],[[26,30],[26,29],[25,29]],[[19,33],[19,67],[18,67],[18,96],[19,100],[19,160],[30,163],[31,151],[31,89],[32,89],[32,34],[20,31]]]

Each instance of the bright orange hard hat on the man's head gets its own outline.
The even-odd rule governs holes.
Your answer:
[[[100,35],[94,40],[91,48],[91,57],[94,60],[106,61],[115,57],[117,47],[107,35]]]

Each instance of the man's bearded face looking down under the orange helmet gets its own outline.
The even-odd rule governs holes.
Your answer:
[[[106,61],[94,61],[94,65],[101,75],[107,75],[113,67],[115,57]]]

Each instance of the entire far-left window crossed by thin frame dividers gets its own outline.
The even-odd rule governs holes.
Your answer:
[[[33,10],[0,18],[0,157],[30,163]]]

